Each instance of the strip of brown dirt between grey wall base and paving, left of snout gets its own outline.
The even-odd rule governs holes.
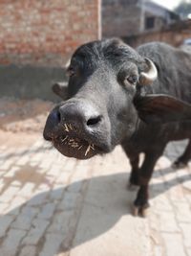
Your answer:
[[[0,99],[0,131],[42,132],[52,108],[52,102],[42,100]]]

